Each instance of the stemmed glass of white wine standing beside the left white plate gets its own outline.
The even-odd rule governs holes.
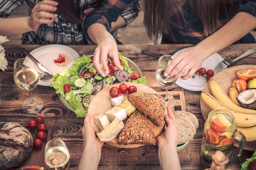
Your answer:
[[[37,113],[43,108],[43,101],[38,97],[32,97],[31,90],[38,84],[38,73],[29,58],[20,58],[13,64],[13,78],[18,88],[28,91],[29,98],[22,102],[22,109],[26,113]]]

